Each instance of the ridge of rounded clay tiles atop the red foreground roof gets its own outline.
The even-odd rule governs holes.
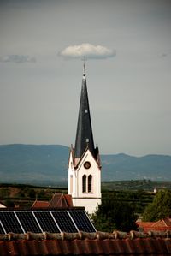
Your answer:
[[[0,241],[14,241],[14,240],[116,240],[116,239],[145,239],[145,238],[171,238],[171,231],[166,232],[156,232],[156,231],[149,231],[147,233],[138,232],[138,231],[130,231],[121,232],[115,231],[114,233],[107,233],[107,232],[100,232],[97,231],[95,233],[87,233],[87,232],[78,232],[78,233],[32,233],[27,232],[25,234],[15,234],[15,233],[8,233],[8,234],[0,234]]]

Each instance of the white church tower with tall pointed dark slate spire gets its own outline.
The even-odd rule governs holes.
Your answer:
[[[101,164],[98,147],[94,147],[85,63],[75,146],[71,146],[68,162],[68,194],[74,206],[84,206],[90,214],[101,204]]]

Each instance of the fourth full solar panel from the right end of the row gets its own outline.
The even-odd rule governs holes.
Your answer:
[[[34,233],[42,233],[42,230],[33,216],[32,211],[16,211],[16,215],[19,218],[25,232],[30,231]]]

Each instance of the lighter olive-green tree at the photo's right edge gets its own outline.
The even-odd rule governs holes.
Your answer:
[[[155,222],[171,215],[171,190],[159,190],[153,202],[144,209],[143,220]]]

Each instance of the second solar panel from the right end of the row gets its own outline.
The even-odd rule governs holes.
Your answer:
[[[56,220],[59,228],[62,232],[76,233],[78,229],[76,228],[73,220],[68,214],[68,211],[52,211],[52,215]]]

